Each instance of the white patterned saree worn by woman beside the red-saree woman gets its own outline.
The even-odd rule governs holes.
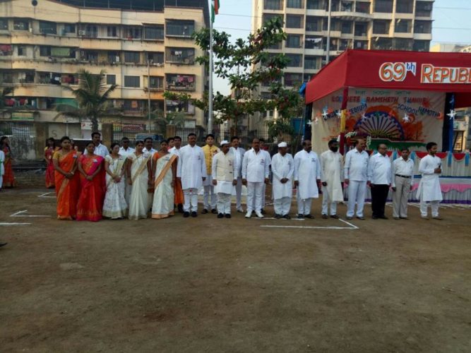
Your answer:
[[[119,158],[113,159],[110,155],[107,155],[105,160],[109,163],[109,169],[111,169],[113,174],[121,174],[124,162],[126,162],[126,157],[119,156]],[[107,191],[105,194],[105,202],[103,203],[104,217],[112,219],[126,217],[128,204],[124,197],[126,192],[126,184],[124,183],[124,175],[121,177],[119,183],[117,183],[109,174],[106,174]]]

